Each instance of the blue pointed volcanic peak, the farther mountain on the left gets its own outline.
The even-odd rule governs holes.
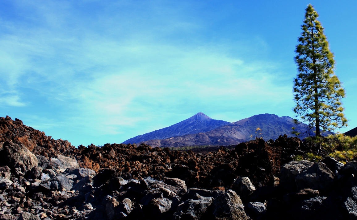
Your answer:
[[[130,138],[123,143],[139,143],[148,140],[160,140],[175,136],[203,133],[227,124],[230,124],[230,122],[211,119],[202,112],[198,112],[196,115],[175,125]]]

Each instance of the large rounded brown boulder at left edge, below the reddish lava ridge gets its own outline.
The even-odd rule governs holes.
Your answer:
[[[0,154],[16,176],[24,176],[32,167],[38,166],[36,156],[22,144],[6,141]]]

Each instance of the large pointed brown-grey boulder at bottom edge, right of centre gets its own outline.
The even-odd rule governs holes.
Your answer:
[[[217,220],[248,220],[242,201],[236,192],[227,190],[213,201],[213,216]]]

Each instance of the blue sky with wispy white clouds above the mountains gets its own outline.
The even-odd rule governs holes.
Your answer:
[[[1,1],[0,115],[73,145],[203,112],[294,116],[304,10],[325,27],[357,126],[356,1]]]

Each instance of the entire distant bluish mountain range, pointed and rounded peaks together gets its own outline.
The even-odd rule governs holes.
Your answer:
[[[264,140],[275,140],[284,134],[291,137],[293,136],[291,128],[296,127],[300,131],[305,131],[303,125],[296,125],[291,117],[272,114],[254,115],[230,123],[211,119],[198,112],[175,125],[130,138],[123,143],[146,143],[152,147],[227,146],[254,139],[256,136]],[[261,135],[255,133],[258,127],[262,129]]]

